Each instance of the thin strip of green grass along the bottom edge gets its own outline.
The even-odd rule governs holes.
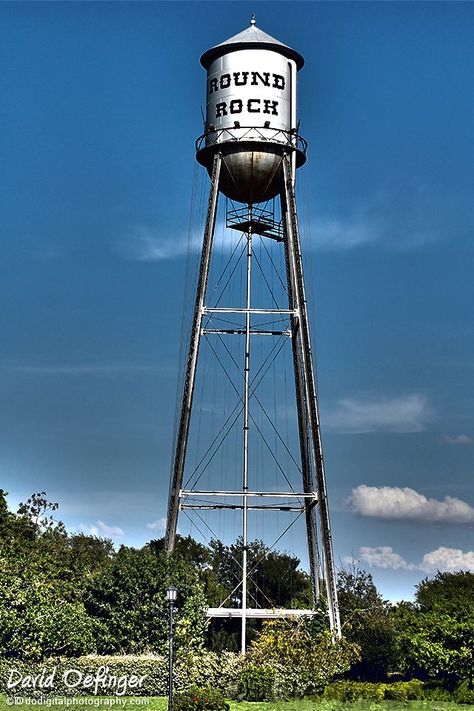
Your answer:
[[[119,697],[120,698],[120,697]],[[77,701],[80,701],[77,698]],[[116,700],[116,697],[113,699]],[[96,702],[95,704],[92,702]],[[99,702],[99,703],[97,703]],[[100,704],[100,705],[99,705]],[[135,703],[134,699],[124,698],[120,699],[120,704],[114,703],[108,704],[105,698],[92,698],[85,697],[84,703],[74,703],[70,704],[36,704],[28,703],[27,699],[24,699],[23,704],[15,704],[14,706],[7,704],[6,697],[4,694],[0,695],[0,711],[10,711],[12,708],[18,708],[18,706],[30,711],[51,711],[51,709],[78,709],[88,711],[98,709],[110,710],[110,711],[131,711],[134,709],[143,709],[144,711],[167,711],[168,700],[164,697],[151,697],[146,705],[138,705]],[[460,706],[459,704],[447,703],[443,701],[410,701],[407,704],[399,703],[398,701],[384,701],[380,704],[373,703],[370,701],[359,701],[356,703],[341,703],[340,701],[276,701],[274,703],[250,703],[248,701],[242,701],[237,703],[235,701],[230,702],[231,711],[467,711],[469,706]]]

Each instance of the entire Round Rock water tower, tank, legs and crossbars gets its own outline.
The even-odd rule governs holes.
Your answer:
[[[297,73],[304,59],[260,30],[252,17],[246,30],[204,52],[201,64],[207,70],[207,104],[205,130],[196,148],[197,160],[210,176],[210,192],[172,465],[166,548],[168,552],[173,551],[178,515],[182,510],[238,509],[241,512],[240,606],[212,608],[208,614],[241,618],[242,651],[245,651],[248,618],[312,614],[312,610],[254,608],[249,605],[247,592],[249,512],[301,511],[314,603],[320,594],[320,578],[324,578],[330,626],[337,637],[341,631],[336,575],[295,200],[296,170],[306,160],[306,142],[298,134],[297,121]],[[227,226],[245,236],[246,277],[241,304],[213,308],[207,303],[207,291],[220,194],[227,199]],[[275,202],[278,215],[274,207],[269,207]],[[253,282],[258,278],[258,274],[252,272],[256,238],[272,240],[284,252],[287,295],[284,308],[272,304],[256,308],[252,304]],[[242,324],[232,328],[208,328],[208,319],[216,314],[238,315]],[[261,320],[262,316],[287,318],[288,328],[277,331],[256,327],[255,319]],[[216,333],[222,338],[240,337],[242,344],[241,461],[233,463],[241,467],[241,486],[235,490],[183,488],[200,343],[202,338]],[[253,396],[251,349],[258,338],[282,334],[291,341],[301,472],[299,491],[258,489],[252,478],[252,466],[249,466]],[[203,498],[206,499],[204,504]]]

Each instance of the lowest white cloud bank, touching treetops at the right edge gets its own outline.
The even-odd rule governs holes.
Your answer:
[[[359,551],[360,561],[373,568],[385,570],[419,570],[423,573],[454,573],[467,570],[474,572],[474,551],[463,552],[458,548],[440,546],[426,553],[419,563],[407,562],[390,546],[362,547]]]

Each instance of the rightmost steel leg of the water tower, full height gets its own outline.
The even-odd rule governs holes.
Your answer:
[[[318,510],[325,569],[324,577],[328,598],[329,622],[331,626],[331,631],[333,632],[334,636],[340,637],[341,623],[337,599],[336,569],[332,549],[331,524],[329,519],[329,507],[326,491],[326,475],[324,471],[321,429],[319,424],[318,398],[313,370],[311,341],[309,336],[308,312],[303,276],[303,260],[301,256],[301,243],[298,227],[298,217],[296,212],[296,199],[292,181],[291,158],[288,155],[285,155],[283,157],[283,183],[284,185],[281,193],[281,206],[285,227],[285,254],[287,261],[289,291],[288,296],[290,305],[293,304],[293,306],[296,307],[297,314],[297,323],[293,324],[294,340],[297,341],[297,344],[293,346],[293,357],[295,363],[295,382],[298,403],[298,419],[300,426],[300,442],[302,450],[303,486],[308,486],[312,484],[311,474],[308,480],[307,464],[305,467],[305,459],[303,459],[303,456],[306,458],[306,452],[308,451],[308,448],[306,443],[307,428],[304,424],[305,417],[301,417],[301,415],[306,415],[307,413],[310,422],[311,448],[314,457],[314,466],[316,473]],[[305,400],[305,406],[303,406],[302,403],[303,395]],[[308,512],[306,521],[308,528],[308,546],[311,565],[312,549],[314,554],[314,546],[312,545],[311,541],[316,535],[316,529],[314,525],[314,520],[308,522]],[[314,531],[314,536],[312,531]],[[313,562],[311,570],[312,582],[316,575],[317,569]],[[314,589],[315,588],[313,582],[313,590]]]

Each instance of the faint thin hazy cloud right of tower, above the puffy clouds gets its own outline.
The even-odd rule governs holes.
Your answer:
[[[333,432],[422,432],[433,419],[424,395],[399,397],[343,398],[326,409],[324,423]]]

